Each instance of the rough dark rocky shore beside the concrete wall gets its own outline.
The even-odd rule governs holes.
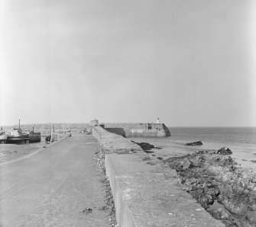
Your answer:
[[[256,170],[238,168],[229,155],[199,151],[163,159],[180,183],[226,226],[256,226]]]

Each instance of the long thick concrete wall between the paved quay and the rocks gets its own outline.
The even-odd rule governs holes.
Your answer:
[[[120,226],[225,226],[183,190],[177,172],[133,142],[92,127]]]

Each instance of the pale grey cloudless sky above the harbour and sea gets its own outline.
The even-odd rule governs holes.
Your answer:
[[[254,0],[0,0],[0,125],[256,126]]]

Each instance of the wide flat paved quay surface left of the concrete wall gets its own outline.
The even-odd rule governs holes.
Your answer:
[[[0,226],[109,226],[109,213],[99,210],[97,149],[91,136],[75,135],[0,167]]]

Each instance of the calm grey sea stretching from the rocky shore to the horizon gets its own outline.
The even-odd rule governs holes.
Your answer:
[[[256,168],[256,127],[169,127],[171,136],[164,138],[130,138],[149,142],[161,149],[154,152],[167,158],[198,150],[218,150],[228,147],[232,158],[242,168]],[[203,145],[187,146],[187,142],[202,141]],[[255,161],[255,162],[253,162]]]

